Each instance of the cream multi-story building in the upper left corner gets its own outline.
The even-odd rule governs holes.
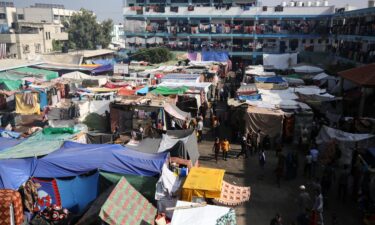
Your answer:
[[[0,59],[37,58],[54,50],[54,42],[68,40],[62,22],[74,12],[60,5],[36,4],[29,8],[16,8],[13,4],[0,4]]]

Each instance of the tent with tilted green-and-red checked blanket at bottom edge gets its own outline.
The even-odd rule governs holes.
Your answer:
[[[99,220],[109,225],[154,224],[156,208],[125,179],[109,188],[91,205],[77,225]]]

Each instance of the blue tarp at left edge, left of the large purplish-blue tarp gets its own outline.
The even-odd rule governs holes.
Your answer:
[[[18,189],[35,169],[36,159],[0,160],[0,189]]]

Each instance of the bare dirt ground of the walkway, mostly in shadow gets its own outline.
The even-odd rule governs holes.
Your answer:
[[[226,110],[223,104],[218,106],[218,114]],[[221,134],[229,137],[230,128],[222,126]],[[225,169],[224,179],[230,183],[240,186],[251,187],[250,201],[235,207],[237,215],[237,223],[239,225],[268,225],[271,219],[280,213],[283,218],[283,225],[291,225],[296,221],[298,214],[297,196],[298,187],[305,185],[311,190],[311,181],[302,176],[303,170],[303,154],[299,153],[299,168],[297,178],[294,180],[281,181],[279,188],[276,183],[274,170],[276,168],[277,158],[274,150],[266,151],[266,165],[264,170],[264,178],[260,179],[262,174],[258,164],[258,156],[253,155],[245,159],[243,156],[236,158],[240,151],[240,146],[232,144],[232,151],[229,154],[228,161],[220,160],[218,163],[214,160],[212,152],[213,137],[208,128],[204,131],[204,140],[199,144],[200,166]],[[296,146],[285,146],[283,153],[286,155],[288,151],[297,150]],[[298,151],[298,150],[297,150]],[[324,224],[331,225],[332,216],[337,215],[338,223],[335,225],[360,225],[360,215],[358,212],[358,204],[355,200],[348,199],[346,203],[337,200],[337,186],[333,185],[328,196],[328,204],[324,207]],[[350,192],[349,192],[350,193]],[[312,196],[313,197],[313,196]]]

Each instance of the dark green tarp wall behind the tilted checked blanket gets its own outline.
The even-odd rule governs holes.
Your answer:
[[[145,176],[136,176],[136,175],[122,175],[118,173],[108,173],[101,171],[100,172],[100,190],[106,190],[111,187],[113,184],[116,184],[122,177],[125,177],[126,180],[147,200],[152,203],[155,203],[155,191],[156,191],[156,182],[158,179],[155,177],[145,177]]]

